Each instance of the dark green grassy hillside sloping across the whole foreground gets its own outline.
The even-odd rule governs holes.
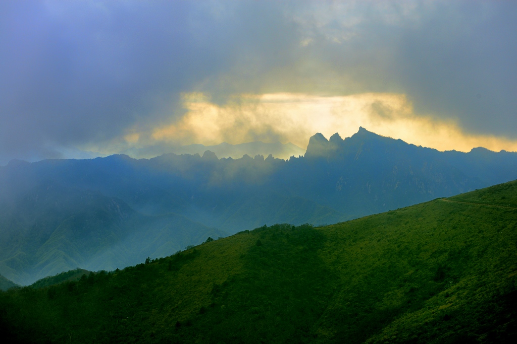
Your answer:
[[[0,293],[20,342],[513,342],[517,182]],[[512,340],[513,339],[513,340]]]

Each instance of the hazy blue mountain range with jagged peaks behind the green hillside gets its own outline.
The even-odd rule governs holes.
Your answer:
[[[210,151],[0,167],[0,273],[112,270],[262,225],[322,225],[504,183],[517,153],[439,152],[364,128],[288,160]]]

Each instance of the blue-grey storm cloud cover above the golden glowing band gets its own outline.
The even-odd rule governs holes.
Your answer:
[[[0,165],[184,112],[182,92],[400,92],[517,138],[513,2],[2,2]],[[115,152],[113,152],[115,153]]]

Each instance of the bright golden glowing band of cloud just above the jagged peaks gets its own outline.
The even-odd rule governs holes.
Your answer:
[[[183,118],[153,129],[151,138],[160,142],[206,145],[223,141],[233,144],[290,141],[305,148],[309,138],[317,132],[327,138],[339,133],[344,138],[363,126],[379,135],[440,151],[469,151],[477,146],[494,151],[517,151],[516,141],[468,135],[453,121],[417,116],[403,94],[242,94],[224,105],[217,105],[204,94],[189,93],[184,95],[184,107],[187,113]]]

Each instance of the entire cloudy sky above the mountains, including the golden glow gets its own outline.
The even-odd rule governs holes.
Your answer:
[[[2,1],[0,166],[374,133],[517,151],[514,1]]]

